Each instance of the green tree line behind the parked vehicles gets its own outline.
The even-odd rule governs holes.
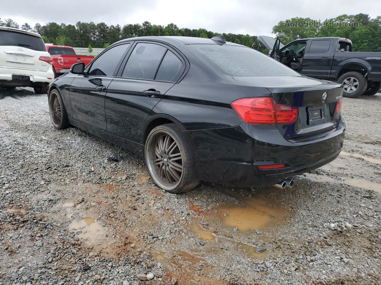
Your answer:
[[[353,43],[354,51],[381,51],[381,16],[371,19],[368,14],[340,15],[332,19],[326,19],[339,23],[338,27],[328,27],[320,25],[292,26],[290,22],[312,22],[311,18],[295,17],[285,21],[280,21],[272,28],[272,33],[279,36],[283,44],[298,38],[314,38],[325,36],[339,36],[349,38]],[[316,20],[315,22],[320,22]],[[349,23],[357,22],[360,25],[350,27]],[[201,38],[211,38],[215,35],[225,36],[226,41],[258,47],[258,39],[255,35],[243,35],[234,33],[217,33],[205,28],[190,29],[179,28],[176,24],[170,23],[166,26],[151,24],[148,21],[142,24],[107,25],[104,22],[95,24],[94,22],[77,22],[75,25],[56,22],[49,22],[45,25],[35,24],[32,28],[24,23],[19,26],[12,19],[2,21],[0,26],[21,28],[39,33],[45,43],[74,47],[107,47],[116,41],[135,36],[194,36]],[[267,49],[263,49],[267,52]]]

